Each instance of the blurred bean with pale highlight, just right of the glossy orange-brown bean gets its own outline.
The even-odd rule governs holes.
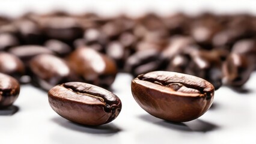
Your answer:
[[[112,41],[106,47],[106,55],[114,59],[117,64],[117,67],[119,69],[122,69],[124,67],[124,62],[130,55],[130,50],[126,49],[126,47],[124,47],[118,41]]]

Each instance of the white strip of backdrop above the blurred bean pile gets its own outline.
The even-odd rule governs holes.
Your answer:
[[[224,0],[224,1],[69,1],[69,0],[45,0],[45,1],[14,1],[3,0],[0,5],[0,13],[7,16],[20,16],[25,11],[37,11],[46,13],[50,10],[66,10],[70,13],[96,12],[102,16],[116,16],[126,13],[130,16],[138,16],[147,12],[156,12],[160,15],[168,15],[177,11],[187,14],[198,14],[202,11],[215,13],[251,13],[255,14],[255,1]]]

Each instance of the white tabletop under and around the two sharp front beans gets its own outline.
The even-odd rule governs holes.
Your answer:
[[[246,94],[222,87],[213,107],[199,119],[173,124],[145,112],[132,97],[129,74],[113,85],[123,108],[109,124],[85,127],[67,121],[49,106],[47,93],[22,86],[14,115],[0,116],[1,143],[255,143],[256,73]]]

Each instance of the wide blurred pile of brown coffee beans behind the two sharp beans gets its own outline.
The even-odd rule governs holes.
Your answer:
[[[136,77],[157,70],[240,88],[256,69],[255,40],[249,14],[28,13],[0,17],[0,73],[46,91],[72,81],[109,88],[119,71]]]

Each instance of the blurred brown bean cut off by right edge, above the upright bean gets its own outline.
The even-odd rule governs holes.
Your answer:
[[[237,41],[231,50],[232,53],[237,53],[239,55],[244,55],[249,59],[251,65],[256,68],[256,43],[252,39],[243,39]]]

